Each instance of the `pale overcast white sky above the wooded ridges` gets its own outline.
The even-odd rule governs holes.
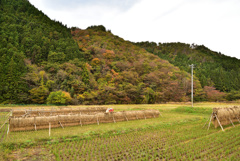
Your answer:
[[[51,19],[132,42],[204,45],[240,59],[240,0],[29,0]]]

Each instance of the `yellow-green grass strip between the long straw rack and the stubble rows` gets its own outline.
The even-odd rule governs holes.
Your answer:
[[[51,138],[56,139],[60,137],[69,137],[69,136],[79,136],[86,137],[92,134],[95,135],[105,135],[109,131],[129,131],[136,129],[144,129],[149,126],[160,126],[165,124],[174,124],[177,122],[188,121],[188,120],[196,120],[196,119],[204,119],[206,116],[189,116],[188,114],[177,114],[173,112],[165,112],[162,114],[163,117],[147,119],[147,120],[134,120],[128,122],[117,122],[117,123],[108,123],[108,124],[100,124],[100,125],[83,125],[74,126],[74,127],[65,127],[55,128],[51,130]],[[4,141],[7,143],[22,143],[27,140],[31,140],[32,142],[36,142],[38,140],[49,138],[48,130],[39,130],[39,131],[25,131],[25,132],[11,132],[9,137]]]

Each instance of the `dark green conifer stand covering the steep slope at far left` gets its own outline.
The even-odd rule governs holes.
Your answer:
[[[22,79],[26,59],[40,65],[49,53],[62,55],[63,61],[81,58],[70,29],[27,0],[1,0],[0,15],[0,102],[28,102],[31,87]]]

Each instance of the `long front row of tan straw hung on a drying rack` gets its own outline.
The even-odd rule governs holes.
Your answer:
[[[87,114],[69,114],[57,116],[36,116],[26,118],[11,117],[9,119],[10,131],[26,131],[47,129],[51,123],[51,128],[111,123],[120,121],[129,121],[137,119],[147,119],[159,117],[158,110],[144,110],[144,111],[121,111],[113,113],[97,113],[94,115]]]

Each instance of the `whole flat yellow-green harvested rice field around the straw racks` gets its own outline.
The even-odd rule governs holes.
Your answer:
[[[161,115],[51,130],[10,131],[8,135],[9,124],[4,122],[9,112],[0,112],[0,123],[4,124],[0,131],[0,160],[239,160],[238,122],[234,122],[235,127],[224,125],[224,131],[211,123],[208,130],[214,107],[234,105],[240,106],[240,103],[198,103],[194,108],[174,103],[107,105],[104,107],[111,107],[114,112],[154,109]]]

